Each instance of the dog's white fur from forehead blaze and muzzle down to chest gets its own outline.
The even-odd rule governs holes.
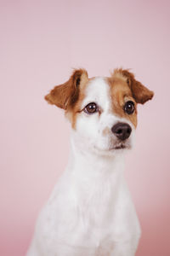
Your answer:
[[[71,131],[68,166],[37,220],[27,256],[133,256],[140,228],[123,176],[124,149],[108,131],[127,119],[111,113],[109,85],[93,79],[82,109],[96,102],[100,113],[81,112]]]

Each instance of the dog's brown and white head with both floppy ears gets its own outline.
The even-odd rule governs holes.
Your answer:
[[[82,148],[113,154],[132,147],[137,104],[152,96],[153,92],[127,70],[116,69],[110,78],[88,79],[88,73],[79,69],[45,99],[65,109]]]

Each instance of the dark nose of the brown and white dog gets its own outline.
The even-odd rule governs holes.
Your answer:
[[[130,136],[132,128],[126,123],[117,123],[111,128],[111,131],[116,135],[116,137],[124,141]]]

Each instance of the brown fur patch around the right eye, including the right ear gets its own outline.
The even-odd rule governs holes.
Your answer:
[[[107,79],[111,88],[112,108],[114,113],[122,118],[130,120],[134,127],[137,126],[137,103],[144,104],[149,101],[154,93],[148,90],[143,84],[134,79],[133,73],[128,70],[116,69]],[[132,101],[134,103],[134,112],[128,114],[125,112],[125,103]]]

